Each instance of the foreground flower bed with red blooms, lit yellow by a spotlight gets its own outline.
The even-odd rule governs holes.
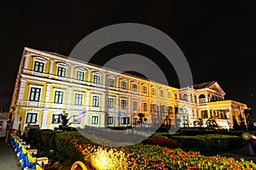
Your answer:
[[[59,152],[73,161],[83,160],[85,165],[99,166],[97,158],[112,159],[116,167],[123,169],[255,169],[253,161],[236,161],[221,156],[202,156],[199,152],[172,150],[167,147],[151,144],[134,144],[123,148],[111,148],[99,144],[91,144],[79,133],[68,132],[56,135]],[[102,155],[100,154],[102,152]],[[125,154],[125,158],[124,158]],[[113,156],[122,157],[113,159]],[[125,159],[125,161],[124,161]],[[114,162],[113,162],[114,161]],[[106,166],[106,165],[105,165]],[[101,167],[97,167],[101,169]],[[104,169],[104,167],[102,167]]]

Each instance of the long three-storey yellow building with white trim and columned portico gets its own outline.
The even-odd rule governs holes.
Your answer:
[[[13,127],[27,124],[53,129],[60,114],[68,113],[72,127],[136,127],[138,113],[143,125],[164,122],[195,126],[199,118],[213,117],[227,127],[230,116],[241,114],[247,105],[224,100],[217,82],[189,88],[172,88],[141,77],[91,65],[61,54],[25,48],[10,105]],[[85,111],[85,116],[80,117]]]

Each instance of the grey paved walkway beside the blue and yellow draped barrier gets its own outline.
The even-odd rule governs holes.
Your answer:
[[[0,139],[0,169],[20,170],[14,150],[4,142],[4,139]]]

